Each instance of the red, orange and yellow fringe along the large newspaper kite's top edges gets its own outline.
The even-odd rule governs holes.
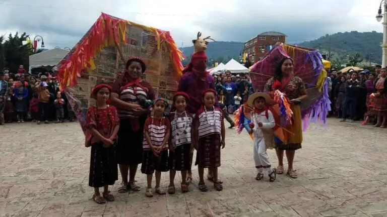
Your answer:
[[[60,89],[73,87],[77,84],[77,78],[83,72],[95,70],[94,58],[103,48],[115,46],[116,44],[127,44],[127,25],[137,26],[154,33],[156,35],[157,49],[160,49],[161,46],[167,46],[170,51],[175,76],[180,77],[182,75],[183,65],[181,60],[184,59],[184,55],[177,48],[169,32],[102,13],[81,41],[59,62],[58,80]]]

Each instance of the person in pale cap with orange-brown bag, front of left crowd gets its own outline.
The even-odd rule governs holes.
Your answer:
[[[48,124],[49,113],[50,113],[50,93],[47,90],[47,83],[42,81],[38,86],[35,87],[38,93],[38,113],[39,120],[37,124],[40,125],[41,121],[44,121],[45,124]]]

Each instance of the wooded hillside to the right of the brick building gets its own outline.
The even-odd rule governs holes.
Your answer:
[[[331,38],[331,39],[330,39]],[[383,34],[378,32],[357,31],[325,35],[316,40],[299,43],[299,46],[318,49],[321,54],[329,53],[331,46],[331,60],[346,60],[347,55],[359,52],[364,60],[381,63],[381,47]]]

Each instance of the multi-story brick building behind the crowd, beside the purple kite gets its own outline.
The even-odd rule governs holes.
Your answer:
[[[286,35],[280,32],[264,32],[244,43],[243,51],[247,59],[252,62],[259,61],[277,43],[285,43]]]

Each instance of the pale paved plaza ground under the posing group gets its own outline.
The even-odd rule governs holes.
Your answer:
[[[227,124],[226,124],[227,126]],[[278,175],[256,181],[251,140],[227,129],[218,192],[197,188],[197,169],[188,193],[145,197],[146,176],[138,173],[139,192],[119,194],[96,204],[88,186],[90,149],[78,123],[0,126],[0,216],[387,216],[387,129],[340,123],[311,126],[296,152],[298,179]],[[268,151],[277,165],[274,150]],[[285,165],[286,170],[286,165]],[[167,188],[169,173],[163,173]]]

